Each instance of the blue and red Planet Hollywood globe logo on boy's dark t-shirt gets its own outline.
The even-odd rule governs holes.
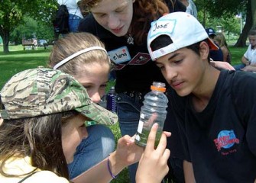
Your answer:
[[[218,151],[222,148],[228,149],[234,146],[235,143],[239,143],[238,138],[235,137],[234,130],[222,130],[218,134],[218,138],[213,140]]]

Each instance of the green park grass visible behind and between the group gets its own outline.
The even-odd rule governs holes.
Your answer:
[[[235,48],[229,47],[232,53],[232,65],[236,65],[241,62],[241,56],[247,50],[247,47],[244,48]],[[0,46],[2,50],[2,46]],[[0,53],[0,88],[11,78],[12,75],[15,75],[18,72],[21,72],[24,69],[32,69],[37,66],[47,66],[47,60],[50,56],[51,47],[38,48],[38,50],[23,50],[21,45],[19,46],[10,46],[10,53],[4,54]],[[114,82],[109,82],[108,88],[111,85],[114,85]],[[118,124],[115,124],[110,127],[112,132],[115,135],[115,141],[121,137],[121,132],[118,127]],[[126,183],[128,182],[128,169],[124,169],[115,180],[111,181],[112,183]],[[166,181],[171,182],[171,181]]]

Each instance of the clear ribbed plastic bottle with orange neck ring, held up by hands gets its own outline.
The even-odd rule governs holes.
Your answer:
[[[166,91],[165,84],[162,82],[153,82],[151,85],[151,92],[144,96],[143,106],[141,107],[141,115],[138,124],[138,130],[135,136],[135,143],[138,146],[147,145],[147,137],[151,131],[154,123],[158,124],[157,136],[155,146],[158,146],[160,136],[163,131],[164,121],[167,116],[167,96],[164,95]],[[157,114],[154,121],[150,121],[152,114]]]

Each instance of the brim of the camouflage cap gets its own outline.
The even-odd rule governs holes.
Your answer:
[[[80,108],[75,108],[80,114],[89,117],[98,124],[112,125],[118,122],[118,116],[111,111],[102,108],[99,104],[89,104]]]

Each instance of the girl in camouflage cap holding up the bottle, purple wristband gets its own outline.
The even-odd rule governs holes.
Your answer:
[[[14,75],[2,88],[1,107],[0,182],[69,182],[67,164],[87,135],[85,121],[114,124],[118,120],[115,114],[93,103],[73,76],[46,68]],[[144,152],[133,138],[123,136],[109,158],[73,182],[109,182],[139,159],[137,181],[160,182],[168,172],[166,137],[170,133],[163,133],[154,149],[156,132],[157,124],[152,127]]]

